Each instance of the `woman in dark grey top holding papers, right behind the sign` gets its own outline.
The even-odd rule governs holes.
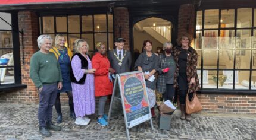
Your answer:
[[[149,107],[151,108],[152,117],[155,117],[155,87],[157,80],[149,81],[149,78],[152,77],[158,68],[158,56],[152,52],[152,42],[150,40],[145,40],[143,42],[143,48],[145,52],[139,55],[139,58],[135,62],[135,68],[138,68],[138,71],[144,72],[144,77],[146,80],[146,91],[148,93]]]

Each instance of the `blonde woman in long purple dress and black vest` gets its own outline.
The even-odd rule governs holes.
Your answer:
[[[76,52],[71,59],[71,85],[74,100],[74,112],[77,125],[88,125],[90,119],[86,115],[95,113],[94,75],[95,69],[87,55],[88,43],[77,39]]]

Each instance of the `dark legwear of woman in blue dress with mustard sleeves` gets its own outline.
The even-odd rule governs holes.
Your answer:
[[[71,91],[67,91],[66,93],[67,93],[67,96],[68,96],[68,105],[69,105],[69,108],[70,108],[70,112],[74,112],[74,103],[73,103],[72,92]],[[60,93],[57,93],[57,97],[56,97],[54,106],[55,106],[56,112],[58,114],[61,114]]]

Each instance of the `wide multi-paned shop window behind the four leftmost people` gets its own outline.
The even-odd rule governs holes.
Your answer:
[[[76,39],[85,39],[88,42],[90,56],[95,52],[97,42],[103,42],[108,48],[113,49],[113,15],[42,15],[39,22],[40,34],[49,34],[53,39],[56,34],[64,34],[67,39],[65,46],[73,52]]]

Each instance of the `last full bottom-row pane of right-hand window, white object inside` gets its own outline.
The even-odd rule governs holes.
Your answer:
[[[238,83],[235,84],[235,89],[245,89],[249,90],[249,71],[238,71]],[[235,78],[236,78],[235,75]]]

